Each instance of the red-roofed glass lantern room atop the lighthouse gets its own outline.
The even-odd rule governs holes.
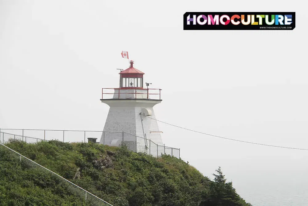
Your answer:
[[[134,61],[130,61],[130,67],[121,71],[120,74],[120,87],[134,87],[143,88],[143,75],[142,71],[133,67]]]

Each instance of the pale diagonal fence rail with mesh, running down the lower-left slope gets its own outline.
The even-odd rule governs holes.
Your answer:
[[[77,192],[78,195],[79,195],[82,199],[84,199],[86,203],[87,203],[87,202],[91,202],[91,205],[103,205],[103,206],[105,206],[105,205],[107,205],[107,206],[111,205],[111,204],[107,203],[106,201],[100,199],[99,197],[93,195],[92,193],[90,193],[90,192],[84,190],[83,188],[79,187],[78,185],[72,183],[71,181],[69,181],[69,180],[67,180],[67,179],[65,179],[65,178],[63,178],[63,177],[61,177],[59,174],[56,174],[55,172],[53,172],[53,171],[47,169],[46,167],[44,167],[44,166],[42,166],[42,165],[40,165],[40,164],[38,164],[38,163],[36,163],[36,162],[30,160],[29,158],[26,158],[26,157],[23,156],[22,154],[20,154],[20,153],[14,151],[13,149],[10,149],[10,148],[7,147],[6,145],[3,145],[3,144],[0,143],[0,146],[4,147],[4,148],[6,148],[6,149],[9,149],[11,152],[17,154],[17,156],[19,156],[19,158],[20,158],[20,161],[22,161],[22,158],[24,158],[24,159],[26,159],[28,162],[30,161],[30,163],[32,163],[33,165],[39,166],[39,167],[45,169],[46,171],[51,172],[53,175],[56,175],[56,177],[60,178],[61,180],[63,180],[63,181],[65,181],[65,182],[69,183],[72,187],[75,187],[75,190],[74,190],[74,191]],[[30,165],[29,165],[29,166],[30,166]],[[112,206],[112,205],[111,205],[111,206]]]

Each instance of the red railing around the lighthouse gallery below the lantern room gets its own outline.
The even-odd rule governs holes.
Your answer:
[[[106,92],[107,90],[107,92]],[[108,92],[108,90],[114,90],[113,92]],[[115,90],[118,90],[117,92]],[[122,90],[132,90],[132,92],[122,92]],[[140,92],[144,90],[146,92]],[[105,91],[105,92],[104,92]],[[124,88],[102,88],[102,99],[159,99],[161,100],[161,89],[152,88],[136,88],[136,87],[124,87]],[[125,94],[125,98],[120,98]],[[106,95],[116,95],[117,98],[113,96],[111,98],[106,98]],[[127,97],[128,95],[128,97]],[[139,97],[138,97],[139,95]],[[145,97],[146,95],[146,97]],[[140,97],[142,96],[142,97]]]

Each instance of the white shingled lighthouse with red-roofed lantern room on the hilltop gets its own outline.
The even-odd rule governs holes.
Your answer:
[[[135,152],[146,152],[156,156],[157,153],[164,153],[161,132],[157,121],[154,120],[156,118],[153,110],[153,107],[162,101],[161,89],[148,88],[150,83],[146,83],[147,88],[143,88],[144,73],[134,68],[133,64],[134,62],[130,61],[130,67],[119,73],[119,88],[102,89],[101,101],[110,107],[103,131],[119,132],[103,132],[100,144],[125,144]],[[112,92],[108,93],[108,90]],[[108,95],[113,96],[108,98]],[[152,141],[152,146],[149,145],[149,140]]]

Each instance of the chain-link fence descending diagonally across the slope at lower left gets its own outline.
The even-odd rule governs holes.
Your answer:
[[[20,153],[8,148],[7,146],[0,143],[0,160],[2,158],[5,158],[10,160],[12,164],[15,162],[19,162],[19,164],[22,166],[25,170],[31,170],[33,172],[39,172],[42,177],[44,176],[50,176],[52,181],[54,181],[54,185],[56,185],[59,188],[63,188],[61,192],[65,193],[65,195],[73,195],[78,200],[77,202],[83,202],[86,205],[94,205],[94,206],[108,206],[111,205],[107,203],[106,201],[100,199],[99,197],[91,194],[90,192],[84,190],[83,188],[75,185],[74,183],[70,182],[67,179],[64,179],[60,175],[54,173],[51,170],[48,170],[47,168],[39,165],[38,163],[26,158],[25,156],[21,155]],[[3,155],[3,156],[2,156]],[[112,205],[111,205],[112,206]]]

